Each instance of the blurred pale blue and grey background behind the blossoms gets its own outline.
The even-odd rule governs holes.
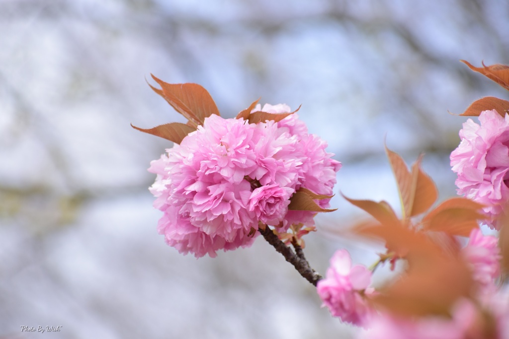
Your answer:
[[[129,124],[183,118],[146,79],[199,83],[224,117],[302,104],[343,163],[335,192],[397,207],[384,140],[455,195],[466,119],[448,111],[506,97],[459,59],[508,64],[508,33],[504,0],[0,0],[0,337],[353,336],[261,237],[215,259],[164,244],[146,169],[171,143]],[[364,214],[332,206],[311,265],[340,248],[370,265],[377,248],[345,237]]]

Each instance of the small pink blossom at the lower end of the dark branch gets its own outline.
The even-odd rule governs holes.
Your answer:
[[[330,313],[342,321],[366,326],[374,313],[365,299],[374,292],[369,288],[371,274],[364,266],[352,267],[348,251],[336,251],[330,259],[326,278],[317,284],[322,306],[327,306]]]

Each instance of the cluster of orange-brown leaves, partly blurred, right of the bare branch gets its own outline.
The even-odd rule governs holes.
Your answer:
[[[354,200],[353,205],[375,221],[354,228],[364,237],[385,242],[381,261],[405,259],[407,271],[372,298],[377,308],[406,316],[449,315],[453,304],[471,297],[475,285],[459,255],[457,236],[468,236],[483,220],[483,205],[451,198],[432,208],[438,198],[433,180],[421,169],[422,157],[408,169],[403,159],[386,148],[401,201],[399,218],[385,201]]]

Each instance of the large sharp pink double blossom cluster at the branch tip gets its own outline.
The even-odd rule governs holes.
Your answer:
[[[253,111],[288,113],[287,105]],[[316,212],[289,210],[300,188],[332,195],[341,163],[296,114],[249,124],[243,118],[205,118],[203,126],[167,155],[151,162],[157,174],[150,191],[164,212],[158,232],[180,253],[197,258],[252,243],[259,222],[280,232],[293,224],[312,226]],[[328,207],[328,200],[317,203]]]

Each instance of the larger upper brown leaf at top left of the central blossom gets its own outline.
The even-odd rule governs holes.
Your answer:
[[[161,86],[161,90],[152,87],[156,90],[156,93],[160,94],[159,91],[162,91],[162,95],[160,95],[193,125],[203,125],[206,117],[212,114],[219,115],[214,100],[208,91],[199,84],[169,84],[154,75],[152,75],[152,78]]]

